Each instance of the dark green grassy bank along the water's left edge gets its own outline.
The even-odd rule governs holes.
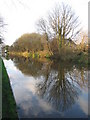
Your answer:
[[[2,117],[18,119],[16,103],[10,86],[10,80],[2,61]]]

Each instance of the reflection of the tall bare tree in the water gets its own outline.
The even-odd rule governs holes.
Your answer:
[[[54,63],[51,69],[46,71],[44,80],[37,83],[38,95],[59,111],[71,108],[81,93],[81,87],[88,85],[84,68],[78,70],[73,66]]]

